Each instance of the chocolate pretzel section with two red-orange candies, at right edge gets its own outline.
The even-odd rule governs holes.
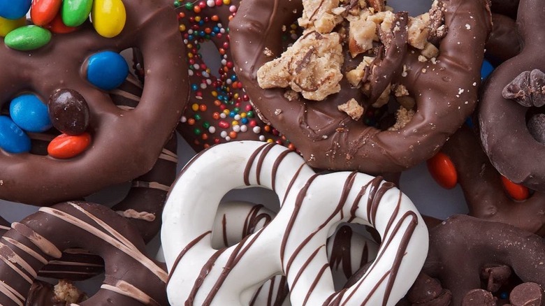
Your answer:
[[[463,189],[469,214],[545,235],[545,194],[510,182],[492,166],[470,128],[463,126],[428,160],[443,187]]]

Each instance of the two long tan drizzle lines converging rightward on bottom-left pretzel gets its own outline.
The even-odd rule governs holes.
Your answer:
[[[63,221],[68,222],[69,224],[72,224],[74,226],[77,226],[78,228],[81,228],[84,231],[89,232],[92,235],[95,235],[98,238],[101,238],[102,240],[104,240],[104,242],[107,242],[108,244],[117,247],[117,249],[141,263],[148,270],[150,270],[150,272],[152,272],[155,276],[161,279],[161,282],[166,282],[168,274],[164,270],[159,268],[159,266],[155,264],[150,258],[147,258],[144,254],[138,251],[138,249],[136,249],[136,247],[134,247],[134,245],[129,242],[129,240],[126,240],[126,238],[124,238],[121,234],[117,233],[117,231],[115,231],[115,229],[106,224],[106,222],[94,217],[94,215],[87,212],[82,207],[70,202],[68,202],[68,204],[72,205],[80,212],[83,212],[85,215],[87,215],[87,217],[93,219],[93,221],[102,226],[106,231],[108,231],[108,233],[110,233],[110,235],[113,235],[113,237],[106,235],[106,233],[103,233],[91,224],[87,224],[87,222],[83,221],[82,219],[78,219],[77,217],[67,214],[66,212],[62,212],[61,210],[56,210],[51,207],[41,207],[39,211],[57,217]]]

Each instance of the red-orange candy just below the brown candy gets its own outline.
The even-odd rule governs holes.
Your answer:
[[[77,156],[89,147],[91,135],[82,133],[80,135],[61,134],[48,145],[48,154],[56,159],[70,159]]]

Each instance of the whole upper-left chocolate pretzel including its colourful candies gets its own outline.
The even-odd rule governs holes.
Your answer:
[[[99,10],[103,2],[94,1],[93,9]],[[122,6],[126,20],[112,38],[98,29],[108,24],[103,23],[105,13],[93,10],[93,23],[84,14],[74,31],[62,34],[52,29],[50,41],[30,50],[13,41],[36,38],[34,31],[48,31],[47,27],[17,28],[2,41],[0,105],[9,112],[1,116],[0,133],[7,140],[0,141],[0,198],[32,205],[80,198],[143,175],[157,160],[182,115],[189,89],[175,10],[170,1],[114,2],[112,10]],[[112,103],[109,94],[126,76],[122,72],[128,67],[119,52],[129,48],[143,54],[146,85],[138,106],[124,110]],[[37,156],[28,153],[25,145],[28,133],[37,133],[32,129],[36,120],[27,118],[31,113],[27,110],[41,110],[43,119],[44,105],[45,117],[51,118],[40,127],[52,125],[65,135],[48,150],[49,156]],[[59,115],[57,106],[73,112]],[[78,138],[84,149],[78,147],[79,154],[66,155],[62,150],[59,154],[67,138]],[[21,139],[23,145],[17,143]]]

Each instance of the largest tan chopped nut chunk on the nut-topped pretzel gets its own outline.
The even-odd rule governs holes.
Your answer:
[[[261,88],[290,87],[305,99],[321,101],[340,92],[344,58],[337,33],[301,36],[281,57],[257,71]]]

